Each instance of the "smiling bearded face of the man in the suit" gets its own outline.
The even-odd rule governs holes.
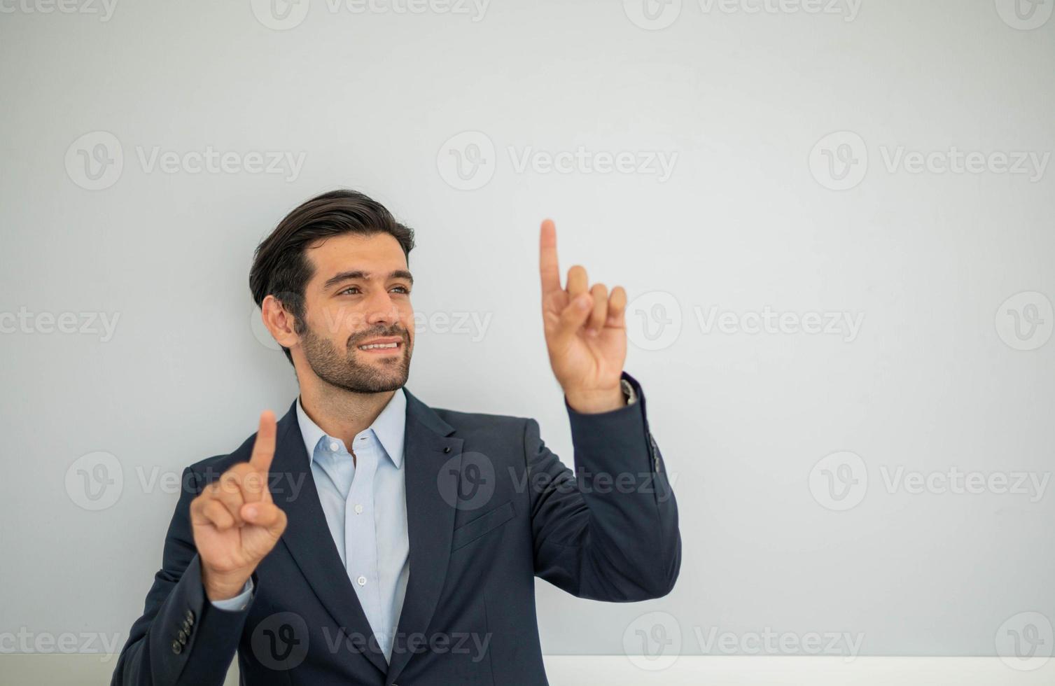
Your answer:
[[[353,393],[406,383],[414,350],[413,279],[399,242],[387,233],[344,233],[305,252],[314,275],[304,292],[301,350],[311,370]],[[364,349],[368,343],[381,347]]]

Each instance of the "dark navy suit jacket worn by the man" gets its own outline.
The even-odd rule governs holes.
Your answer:
[[[289,522],[253,574],[252,602],[225,611],[206,598],[189,506],[249,459],[255,434],[184,472],[161,569],[112,683],[222,684],[237,652],[247,684],[546,684],[535,576],[579,597],[633,602],[667,594],[680,568],[645,394],[624,378],[638,396],[626,407],[587,415],[565,398],[574,473],[534,419],[430,408],[406,390],[410,575],[390,664],[330,536],[294,400],[269,476]]]

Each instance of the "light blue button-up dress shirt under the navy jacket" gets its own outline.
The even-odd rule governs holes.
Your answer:
[[[296,419],[326,525],[388,660],[410,573],[403,476],[406,395],[397,389],[373,423],[356,435],[351,446],[354,462],[340,439],[326,435],[308,417],[300,398]],[[249,580],[242,593],[213,605],[222,610],[242,610],[252,592]]]

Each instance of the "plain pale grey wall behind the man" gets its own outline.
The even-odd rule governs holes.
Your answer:
[[[253,248],[303,199],[350,187],[418,231],[414,304],[431,319],[408,387],[434,406],[535,417],[565,463],[539,221],[557,222],[562,270],[582,264],[634,300],[626,368],[676,479],[680,579],[632,605],[540,582],[546,652],[621,653],[642,616],[673,626],[685,654],[706,652],[699,636],[716,628],[989,655],[1009,621],[1037,627],[1050,652],[1051,489],[886,483],[899,468],[1012,483],[1052,469],[1055,343],[1023,348],[1051,335],[1055,171],[913,173],[884,156],[1055,150],[1055,19],[1016,26],[1004,4],[866,0],[850,20],[845,2],[684,2],[650,20],[619,2],[494,0],[479,16],[311,0],[280,26],[249,1],[118,1],[107,21],[102,5],[5,3],[0,311],[73,312],[78,328],[82,312],[118,319],[108,340],[39,317],[0,335],[0,632],[123,643],[176,501],[161,483],[295,397],[251,324]],[[95,156],[111,140],[97,132],[119,141],[123,167],[90,190],[77,165],[114,153]],[[851,133],[823,142],[833,132]],[[303,165],[147,164],[209,147]],[[518,167],[580,147],[629,152],[633,170]],[[840,174],[816,163],[847,150],[866,173],[837,190]],[[674,154],[669,177],[648,165]],[[483,171],[459,176],[459,155]],[[712,308],[740,324],[706,328]],[[1009,336],[1010,309],[1032,318],[1031,339]],[[852,338],[745,330],[766,311],[863,319]],[[656,343],[660,326],[673,328]],[[122,485],[93,510],[77,470],[112,465],[100,452]],[[819,462],[847,452],[867,489],[859,479],[862,499],[838,511],[816,479],[845,475]]]

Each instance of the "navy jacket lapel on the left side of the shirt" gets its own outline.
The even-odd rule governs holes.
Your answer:
[[[283,476],[277,477],[276,474]],[[282,542],[342,631],[369,639],[373,635],[373,630],[359,604],[356,589],[351,587],[348,572],[341,564],[341,556],[319,500],[319,491],[311,476],[311,464],[296,420],[296,400],[279,422],[275,455],[269,478],[271,483],[277,483],[282,488],[302,483],[299,493],[290,489],[287,494],[272,494],[275,504],[286,511],[288,520]],[[293,497],[294,494],[296,497]],[[361,649],[367,660],[382,673],[387,671],[388,665],[377,642],[364,643],[365,645],[362,645]]]

